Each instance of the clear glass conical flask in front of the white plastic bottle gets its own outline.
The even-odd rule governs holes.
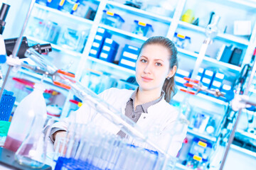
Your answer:
[[[52,124],[52,120],[49,121]],[[46,161],[46,144],[50,128],[43,132],[44,125],[49,124],[46,116],[36,115],[33,120],[31,132],[18,148],[15,159],[18,164],[29,166],[31,168],[41,168]]]

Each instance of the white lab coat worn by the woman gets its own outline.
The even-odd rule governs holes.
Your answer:
[[[111,88],[106,91],[103,91],[99,96],[109,103],[111,106],[117,109],[117,111],[122,114],[125,113],[125,107],[127,105],[127,101],[132,96],[134,91],[127,89],[115,89]],[[170,134],[176,132],[174,137],[171,140],[171,147],[169,148],[169,154],[171,156],[176,157],[178,150],[181,149],[182,142],[186,137],[187,125],[183,125],[178,123],[177,120],[185,119],[183,115],[178,117],[178,111],[174,106],[171,106],[167,103],[164,98],[159,101],[159,103],[154,104],[148,108],[148,113],[142,113],[139,120],[137,121],[137,125],[142,130],[142,132],[152,136],[157,145],[164,149],[165,151],[168,149],[170,144]],[[52,128],[63,128],[68,129],[68,123],[70,121],[75,121],[76,123],[95,123],[105,130],[117,134],[119,132],[119,128],[107,120],[100,114],[95,114],[97,111],[93,111],[91,107],[88,107],[86,103],[75,111],[68,118],[64,118],[58,123],[53,124]],[[176,130],[176,131],[175,131]],[[133,143],[137,145],[136,142]],[[148,145],[143,145],[148,149],[152,149]]]

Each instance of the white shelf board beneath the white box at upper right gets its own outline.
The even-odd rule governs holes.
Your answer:
[[[206,31],[206,28],[202,28],[200,26],[195,26],[191,23],[186,23],[183,21],[178,21],[178,25],[182,26],[183,28],[189,28],[191,30],[196,30],[197,32],[200,32],[200,33],[205,33],[205,31]],[[240,38],[238,36],[225,34],[225,33],[218,33],[217,38],[223,38],[224,40],[230,40],[232,42],[237,42],[242,45],[250,44],[249,40],[247,40],[246,38]]]

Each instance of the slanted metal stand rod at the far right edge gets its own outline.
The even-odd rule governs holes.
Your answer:
[[[255,61],[256,61],[256,60],[255,60]],[[249,79],[248,84],[247,84],[247,86],[246,86],[245,94],[244,94],[244,95],[247,95],[247,94],[248,94],[249,89],[250,89],[250,85],[252,84],[252,79],[253,79],[253,77],[255,76],[255,71],[256,71],[256,62],[255,62],[255,61],[254,61],[253,67],[252,67],[252,72],[251,72],[251,74],[250,74],[250,79]],[[242,108],[240,108],[240,110],[238,111],[238,118],[235,120],[234,128],[233,128],[233,130],[232,130],[232,132],[231,132],[231,135],[230,135],[230,137],[229,137],[228,146],[227,146],[226,149],[225,149],[225,154],[224,154],[224,157],[223,157],[223,161],[221,162],[221,165],[220,165],[220,170],[223,169],[223,166],[224,166],[224,164],[225,164],[225,160],[226,160],[226,158],[227,158],[227,156],[228,156],[228,151],[229,151],[229,149],[230,149],[230,145],[231,145],[231,143],[232,143],[233,140],[234,140],[234,137],[235,137],[235,129],[237,128],[238,121],[239,121],[239,118],[240,118],[241,113],[242,113]]]

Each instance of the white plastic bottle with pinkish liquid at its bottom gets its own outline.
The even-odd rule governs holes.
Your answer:
[[[18,104],[4,143],[6,149],[14,152],[17,151],[31,130],[35,115],[41,115],[39,117],[42,120],[38,123],[38,127],[43,128],[43,123],[45,123],[47,118],[46,101],[43,98],[44,90],[45,88],[42,83],[35,84],[31,94],[23,98],[21,103]]]

